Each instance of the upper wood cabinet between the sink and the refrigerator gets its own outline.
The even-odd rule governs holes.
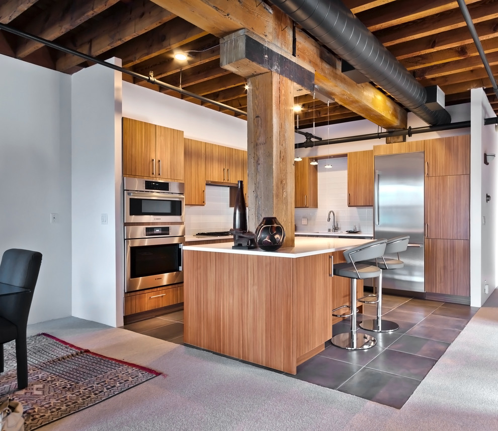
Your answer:
[[[373,150],[348,153],[348,206],[373,206]]]

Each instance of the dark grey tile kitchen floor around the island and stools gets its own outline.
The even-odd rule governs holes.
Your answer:
[[[358,323],[376,315],[364,305]],[[401,408],[478,310],[459,304],[384,295],[382,316],[399,325],[394,332],[361,332],[377,339],[366,350],[346,350],[327,341],[325,349],[297,367],[294,379]],[[183,344],[183,311],[123,326],[134,332]],[[333,326],[348,332],[350,321]],[[276,371],[277,372],[277,371]]]

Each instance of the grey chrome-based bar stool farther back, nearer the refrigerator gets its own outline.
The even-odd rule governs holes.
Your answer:
[[[387,240],[384,254],[387,255],[391,253],[397,253],[397,259],[382,256],[382,258],[380,259],[368,260],[363,262],[365,264],[378,266],[380,268],[380,275],[377,278],[376,293],[366,295],[358,300],[359,302],[362,302],[364,304],[377,304],[377,317],[375,319],[364,320],[363,322],[361,322],[361,328],[374,332],[392,332],[399,328],[399,325],[397,323],[391,322],[390,320],[382,320],[382,270],[398,269],[404,266],[403,261],[399,260],[399,253],[406,250],[409,240],[409,235],[395,237]],[[375,299],[373,301],[369,301],[368,299],[366,299],[371,297]]]

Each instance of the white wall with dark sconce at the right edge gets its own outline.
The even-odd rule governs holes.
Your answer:
[[[496,217],[497,162],[484,165],[484,153],[498,153],[496,128],[484,125],[485,118],[495,117],[482,89],[471,90],[472,126],[470,140],[470,305],[480,307],[497,282],[496,256],[498,223]],[[476,173],[474,175],[474,173]],[[491,200],[486,202],[486,194]],[[484,222],[485,221],[485,222]],[[488,283],[489,292],[484,293]]]

